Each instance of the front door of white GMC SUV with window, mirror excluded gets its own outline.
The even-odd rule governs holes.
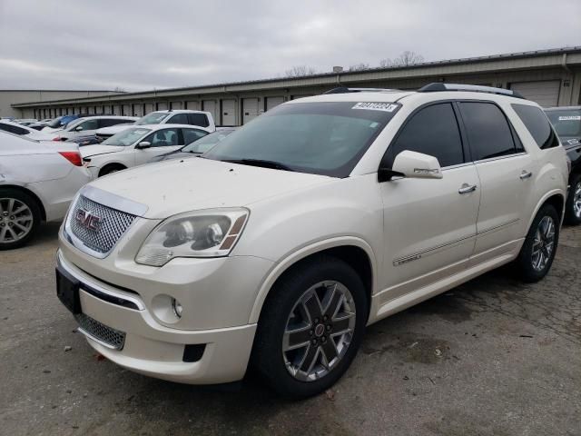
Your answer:
[[[382,166],[404,150],[438,158],[441,179],[381,184],[385,288],[382,302],[461,271],[474,250],[480,188],[452,103],[420,108],[389,145]]]

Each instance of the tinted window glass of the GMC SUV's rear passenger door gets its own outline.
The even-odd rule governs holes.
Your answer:
[[[496,104],[460,103],[475,161],[517,153],[507,117]]]

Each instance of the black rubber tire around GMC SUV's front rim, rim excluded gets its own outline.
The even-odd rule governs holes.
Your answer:
[[[295,303],[313,284],[333,280],[345,285],[353,297],[357,318],[349,349],[333,370],[318,381],[298,381],[287,371],[282,357],[282,335]],[[349,264],[321,256],[284,276],[271,289],[271,298],[263,308],[254,344],[253,366],[265,381],[281,395],[300,399],[326,391],[350,367],[363,338],[368,316],[368,302],[363,282]]]

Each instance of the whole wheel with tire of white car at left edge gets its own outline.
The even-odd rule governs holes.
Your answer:
[[[0,188],[0,250],[28,243],[41,221],[40,206],[34,197],[14,188]]]

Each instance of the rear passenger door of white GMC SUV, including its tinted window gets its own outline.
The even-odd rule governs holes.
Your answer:
[[[458,106],[481,184],[475,262],[483,262],[510,252],[524,237],[537,166],[497,104],[465,101]]]

